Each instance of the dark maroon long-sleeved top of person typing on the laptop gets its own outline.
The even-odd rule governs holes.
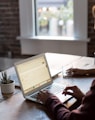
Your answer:
[[[56,96],[50,96],[46,107],[55,120],[95,120],[95,80],[78,109],[70,111]]]

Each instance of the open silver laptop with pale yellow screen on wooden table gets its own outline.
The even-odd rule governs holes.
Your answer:
[[[61,102],[71,99],[70,95],[62,95],[64,85],[53,82],[45,53],[16,62],[14,67],[25,99],[41,103],[37,99],[40,90],[48,90]]]

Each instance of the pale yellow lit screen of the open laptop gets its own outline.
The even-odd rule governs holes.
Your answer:
[[[15,67],[24,94],[51,81],[45,56],[31,57],[17,63]]]

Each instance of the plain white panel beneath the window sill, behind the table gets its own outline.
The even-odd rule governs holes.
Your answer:
[[[48,41],[21,40],[22,54],[56,52],[87,56],[87,42],[84,41]]]

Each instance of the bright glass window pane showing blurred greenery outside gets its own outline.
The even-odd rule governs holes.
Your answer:
[[[36,33],[39,36],[73,36],[73,0],[37,0]]]

